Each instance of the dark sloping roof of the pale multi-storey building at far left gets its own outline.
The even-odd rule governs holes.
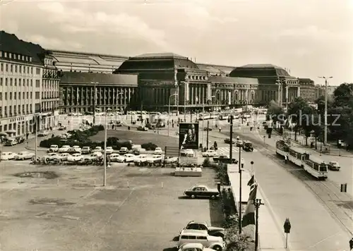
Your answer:
[[[11,52],[23,56],[32,57],[32,63],[42,64],[42,56],[44,56],[45,49],[39,44],[32,44],[18,39],[16,35],[0,31],[0,51]]]

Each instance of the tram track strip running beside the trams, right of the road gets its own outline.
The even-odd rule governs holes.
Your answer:
[[[277,156],[275,147],[266,145],[262,140],[254,139],[247,135],[241,134],[244,140],[253,142],[253,145],[264,149],[259,151],[263,156],[268,157],[276,164],[282,166],[286,171],[292,173],[293,176],[301,180],[306,188],[318,198],[323,206],[328,210],[331,216],[340,224],[342,229],[353,235],[353,197],[347,192],[340,192],[339,186],[329,178],[326,180],[317,180],[292,163],[285,164],[284,160]]]

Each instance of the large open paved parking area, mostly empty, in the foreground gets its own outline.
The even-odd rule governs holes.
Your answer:
[[[193,178],[172,176],[173,169],[113,164],[102,188],[101,166],[34,166],[28,161],[2,161],[0,166],[4,251],[165,251],[172,250],[173,238],[191,220],[222,224],[217,200],[181,197],[196,184],[215,188],[210,169]]]

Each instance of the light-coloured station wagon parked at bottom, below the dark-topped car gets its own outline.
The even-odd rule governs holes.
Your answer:
[[[222,237],[209,235],[207,231],[184,229],[179,235],[177,247],[182,248],[186,243],[200,243],[204,247],[217,251],[225,249],[225,242]]]

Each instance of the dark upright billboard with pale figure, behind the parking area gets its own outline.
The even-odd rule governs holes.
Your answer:
[[[198,149],[198,123],[179,124],[179,149]]]

